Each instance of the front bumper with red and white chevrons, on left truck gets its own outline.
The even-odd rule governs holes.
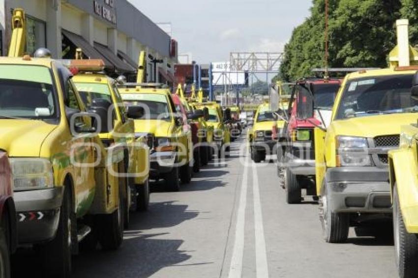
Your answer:
[[[19,244],[39,243],[55,237],[63,194],[63,186],[14,192]]]

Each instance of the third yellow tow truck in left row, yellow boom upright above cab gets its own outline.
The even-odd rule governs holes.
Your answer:
[[[168,86],[145,83],[145,52],[140,53],[139,65],[138,83],[120,83],[118,90],[128,109],[144,109],[144,114],[134,119],[134,125],[135,134],[146,136],[152,145],[150,178],[162,178],[170,190],[179,191],[179,179],[189,183],[192,175],[190,126],[176,111]]]

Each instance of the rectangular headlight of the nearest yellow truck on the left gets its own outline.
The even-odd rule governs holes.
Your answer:
[[[52,164],[43,158],[11,158],[13,186],[16,190],[54,187]]]

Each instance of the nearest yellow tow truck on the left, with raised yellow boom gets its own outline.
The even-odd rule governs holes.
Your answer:
[[[0,148],[9,157],[18,244],[36,247],[45,277],[70,277],[79,243],[117,249],[123,237],[119,148],[100,145],[72,73],[46,49],[23,54],[25,14],[14,11],[9,57],[0,59]],[[14,57],[16,56],[16,57]]]

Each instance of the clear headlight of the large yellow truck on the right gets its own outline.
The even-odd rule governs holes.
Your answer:
[[[337,137],[337,153],[337,166],[372,166],[366,138],[351,136]]]

